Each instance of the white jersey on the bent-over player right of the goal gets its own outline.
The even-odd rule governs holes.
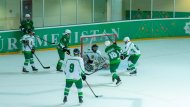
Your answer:
[[[125,44],[125,52],[124,53],[127,53],[127,55],[141,54],[137,45],[135,45],[134,43],[132,43],[130,41],[127,42],[127,44]]]

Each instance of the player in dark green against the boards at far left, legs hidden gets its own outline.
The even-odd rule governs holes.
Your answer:
[[[21,21],[20,30],[27,34],[28,30],[34,31],[33,21],[31,20],[30,14],[25,15],[25,19]]]

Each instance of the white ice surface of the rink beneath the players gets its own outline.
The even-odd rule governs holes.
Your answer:
[[[81,107],[190,107],[190,38],[134,41],[141,50],[138,74],[129,76],[122,61],[118,72],[122,84],[113,86],[109,71],[87,76],[96,95],[84,82]],[[119,44],[122,46],[122,43]],[[123,46],[122,46],[123,48]],[[21,72],[22,54],[0,56],[0,107],[76,107],[73,85],[63,105],[64,73],[55,71],[56,50],[37,51],[44,66],[35,60],[38,72]]]

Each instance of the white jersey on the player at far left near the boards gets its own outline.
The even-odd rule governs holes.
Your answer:
[[[22,51],[31,51],[31,49],[35,47],[34,36],[26,34],[22,37],[20,41],[22,42],[23,40],[28,41],[29,46],[27,44],[22,43]]]

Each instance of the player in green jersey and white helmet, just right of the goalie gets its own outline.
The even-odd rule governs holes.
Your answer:
[[[117,75],[116,70],[120,64],[120,52],[121,48],[116,43],[111,44],[110,41],[105,41],[105,52],[108,54],[110,61],[110,72],[112,74],[112,81],[117,80],[116,85],[121,83],[120,77]]]

